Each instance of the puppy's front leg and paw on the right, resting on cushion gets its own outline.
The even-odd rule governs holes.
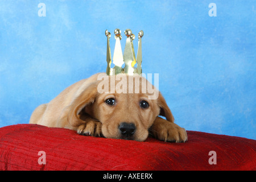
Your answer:
[[[155,118],[150,128],[150,133],[155,138],[165,142],[185,142],[188,140],[187,132],[184,128],[160,117]]]

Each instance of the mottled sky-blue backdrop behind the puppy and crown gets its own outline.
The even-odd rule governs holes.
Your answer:
[[[38,16],[40,2],[46,17]],[[212,2],[216,17],[208,15]],[[0,0],[0,127],[28,123],[36,106],[105,72],[105,30],[114,35],[115,28],[144,31],[143,72],[159,73],[159,90],[178,125],[256,139],[256,4],[250,0]]]

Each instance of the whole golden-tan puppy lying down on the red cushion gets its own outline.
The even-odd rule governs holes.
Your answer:
[[[103,77],[99,79],[102,74],[104,84]],[[48,104],[38,106],[30,123],[63,127],[94,137],[144,141],[151,134],[166,142],[188,139],[185,129],[174,123],[162,94],[138,75],[98,73],[76,82]]]

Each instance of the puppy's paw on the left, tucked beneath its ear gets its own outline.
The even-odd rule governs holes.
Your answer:
[[[86,121],[77,127],[77,133],[85,136],[101,137],[101,122]]]

